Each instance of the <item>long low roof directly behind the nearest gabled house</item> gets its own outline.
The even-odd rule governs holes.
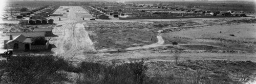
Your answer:
[[[34,32],[7,32],[7,35],[12,35],[12,36],[18,36],[20,34],[23,34],[25,37],[40,37],[43,36],[45,37],[45,32],[40,31],[34,31]]]

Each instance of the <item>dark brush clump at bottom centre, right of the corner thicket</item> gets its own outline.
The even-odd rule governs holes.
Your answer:
[[[143,60],[121,65],[83,62],[80,67],[84,75],[76,83],[143,83],[147,78]]]

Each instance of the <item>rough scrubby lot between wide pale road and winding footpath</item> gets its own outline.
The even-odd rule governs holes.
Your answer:
[[[157,42],[158,30],[169,27],[200,25],[193,21],[160,21],[160,22],[97,22],[87,23],[91,31],[90,38],[95,48],[124,49],[150,45]],[[152,37],[152,39],[151,39]]]

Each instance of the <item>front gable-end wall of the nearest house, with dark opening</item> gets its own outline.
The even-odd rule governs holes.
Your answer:
[[[18,49],[13,49],[14,44],[18,44]],[[25,50],[25,44],[14,40],[11,43],[7,44],[7,49],[13,49],[13,51],[24,51]]]

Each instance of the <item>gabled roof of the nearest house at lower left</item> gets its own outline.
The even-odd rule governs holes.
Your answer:
[[[8,44],[8,43],[11,43],[11,42],[14,41],[14,40],[19,41],[19,42],[21,42],[21,43],[32,43],[31,38],[27,38],[27,37],[25,37],[24,35],[20,34],[20,35],[16,36],[14,39],[9,40],[9,41],[7,42],[7,44]]]

